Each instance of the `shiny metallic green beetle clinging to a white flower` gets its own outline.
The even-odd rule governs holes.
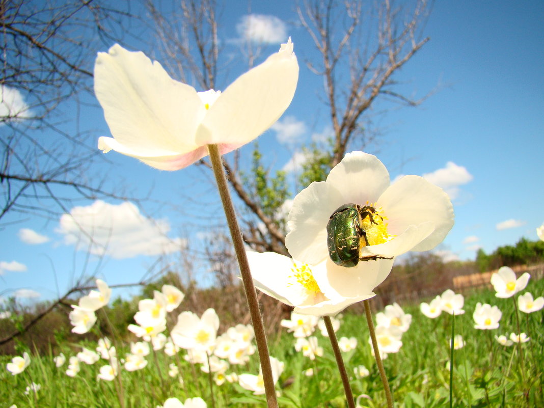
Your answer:
[[[332,262],[342,267],[352,268],[359,261],[392,259],[378,255],[359,257],[361,246],[369,245],[366,231],[362,228],[362,221],[369,217],[371,224],[378,224],[374,221],[374,215],[376,215],[374,207],[354,203],[344,204],[332,213],[327,224],[327,247]]]

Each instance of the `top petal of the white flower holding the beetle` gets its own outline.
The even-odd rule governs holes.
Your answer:
[[[344,202],[340,205],[353,202],[364,206],[367,201],[370,204],[377,201],[387,189],[389,172],[376,156],[355,151],[347,153],[330,171],[327,183],[332,183],[342,194]]]

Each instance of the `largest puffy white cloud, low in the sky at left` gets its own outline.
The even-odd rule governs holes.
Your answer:
[[[160,255],[179,251],[186,245],[181,238],[168,238],[165,219],[149,219],[128,201],[119,205],[97,200],[90,206],[74,207],[60,218],[57,232],[65,244],[95,255],[116,259],[138,255]]]

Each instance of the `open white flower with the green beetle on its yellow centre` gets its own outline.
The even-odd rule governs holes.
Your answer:
[[[327,224],[337,209],[350,204],[366,209],[356,226],[364,232],[359,237],[359,259],[430,250],[454,222],[452,202],[441,188],[419,176],[404,176],[390,186],[384,164],[372,154],[355,151],[345,155],[326,181],[313,182],[296,195],[287,220],[289,254],[311,265],[329,259]],[[375,262],[342,268],[346,286],[368,280],[367,270]]]

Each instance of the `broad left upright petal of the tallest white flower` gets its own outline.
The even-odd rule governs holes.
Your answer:
[[[187,153],[205,107],[196,90],[174,81],[142,52],[114,45],[98,53],[95,94],[113,137],[128,150]]]

